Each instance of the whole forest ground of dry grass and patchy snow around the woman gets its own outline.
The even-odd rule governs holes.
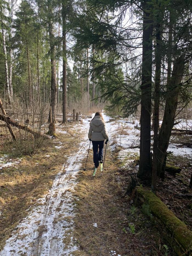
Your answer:
[[[105,120],[111,140],[102,176],[99,170],[92,176],[92,150],[83,171],[88,119],[69,125],[69,130],[58,124],[57,139],[41,154],[10,160],[8,149],[4,150],[0,156],[0,255],[174,255],[127,193],[127,173],[138,170],[137,120],[108,116]],[[0,147],[4,141],[2,134]],[[177,148],[190,154],[190,148]],[[174,163],[174,159],[170,155],[168,161]],[[191,193],[191,160],[182,154],[176,159],[184,171],[174,177],[166,173],[165,183],[159,181],[158,196],[190,227],[190,199],[177,195]]]

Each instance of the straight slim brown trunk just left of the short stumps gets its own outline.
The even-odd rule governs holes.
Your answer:
[[[67,122],[67,71],[66,71],[66,7],[62,3],[62,31],[63,31],[63,123]]]

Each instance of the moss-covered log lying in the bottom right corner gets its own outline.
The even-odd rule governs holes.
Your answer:
[[[142,211],[160,225],[163,237],[178,255],[192,255],[192,232],[151,191],[136,188],[137,201]]]

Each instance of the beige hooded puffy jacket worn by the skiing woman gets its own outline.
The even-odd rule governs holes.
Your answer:
[[[88,138],[91,140],[108,140],[105,123],[100,116],[95,116],[90,123]]]

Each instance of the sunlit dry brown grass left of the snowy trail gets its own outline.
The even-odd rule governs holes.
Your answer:
[[[1,140],[1,145],[5,140],[6,137]],[[55,148],[56,145],[60,145],[58,142],[63,142],[64,147]],[[78,139],[69,136],[69,133],[58,134],[57,140],[52,140],[52,144],[43,153],[32,157],[24,156],[16,166],[1,170],[3,174],[0,175],[0,249],[18,222],[28,214],[27,209],[48,192],[66,156],[72,150],[78,150],[77,145]],[[13,159],[13,156],[11,158]]]

